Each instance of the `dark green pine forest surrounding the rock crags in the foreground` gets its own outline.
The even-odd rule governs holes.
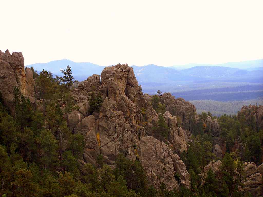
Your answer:
[[[62,77],[53,77],[51,72],[33,71],[36,81],[35,96],[42,99],[43,110],[36,103],[25,98],[17,87],[14,88],[14,111],[3,103],[0,97],[0,195],[8,196],[252,196],[242,193],[241,181],[244,180],[243,163],[262,163],[262,130],[255,125],[252,115],[238,112],[236,115],[223,115],[218,118],[220,137],[226,144],[222,165],[217,174],[210,169],[204,177],[204,168],[218,160],[213,153],[211,129],[204,124],[210,112],[198,115],[188,151],[179,156],[190,174],[190,185],[168,190],[161,183],[160,189],[148,185],[146,175],[139,160],[131,161],[119,154],[114,166],[103,163],[98,156],[98,166],[79,162],[85,146],[80,134],[72,133],[68,125],[68,114],[78,106],[70,95],[73,77],[70,67],[62,70]],[[63,76],[64,75],[64,76]],[[64,111],[58,101],[65,103]],[[99,110],[102,98],[93,94],[90,99],[89,114]],[[160,104],[159,96],[153,96],[151,105],[157,113],[164,113],[165,106]],[[143,109],[142,109],[143,111]],[[64,115],[64,116],[63,116]],[[178,124],[180,120],[178,119]],[[166,140],[169,128],[162,117],[158,126],[161,141]],[[236,147],[240,142],[242,149]],[[134,146],[136,149],[136,146]],[[180,182],[180,176],[174,174]],[[220,179],[218,178],[220,177]],[[180,184],[179,184],[180,185]]]

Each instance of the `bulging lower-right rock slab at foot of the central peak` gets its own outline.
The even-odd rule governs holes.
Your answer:
[[[169,190],[178,189],[180,182],[189,185],[189,173],[183,161],[164,142],[152,136],[143,137],[139,144],[139,156],[149,184],[159,188],[160,183],[165,183]]]

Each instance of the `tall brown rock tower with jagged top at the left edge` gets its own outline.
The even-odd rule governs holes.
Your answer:
[[[20,92],[31,101],[34,96],[34,79],[31,69],[25,71],[24,58],[21,52],[0,51],[0,91],[4,104],[13,113],[13,90],[18,87]]]

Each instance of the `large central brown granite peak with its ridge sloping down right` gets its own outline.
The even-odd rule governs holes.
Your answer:
[[[103,98],[98,111],[89,114],[89,97],[94,92]],[[97,165],[98,155],[113,165],[119,153],[141,161],[150,184],[164,182],[169,189],[189,185],[189,174],[175,152],[187,150],[191,133],[178,128],[176,116],[166,111],[163,116],[170,128],[166,144],[153,132],[159,120],[150,102],[145,99],[127,64],[106,67],[101,75],[92,75],[72,91],[78,111],[69,115],[69,126],[81,133],[86,142],[82,163]],[[166,99],[167,100],[167,99]],[[155,138],[156,137],[156,138]],[[180,175],[180,180],[175,174]]]

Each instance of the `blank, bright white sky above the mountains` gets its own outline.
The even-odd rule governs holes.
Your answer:
[[[173,66],[263,58],[263,1],[1,1],[0,50],[58,59]]]

